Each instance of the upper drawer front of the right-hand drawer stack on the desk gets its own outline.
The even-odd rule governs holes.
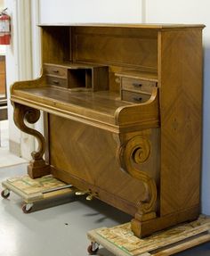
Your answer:
[[[122,78],[122,90],[141,91],[151,94],[154,87],[156,87],[156,82],[153,81],[135,78]]]

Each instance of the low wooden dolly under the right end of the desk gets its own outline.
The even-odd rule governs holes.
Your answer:
[[[209,231],[210,218],[204,215],[141,239],[133,235],[130,223],[101,227],[88,231],[87,252],[97,254],[102,245],[117,256],[168,256],[210,242]]]

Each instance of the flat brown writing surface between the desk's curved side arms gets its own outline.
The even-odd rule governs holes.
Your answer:
[[[59,87],[32,87],[15,90],[15,97],[25,102],[42,104],[44,108],[69,111],[85,117],[115,123],[118,107],[131,105],[119,99],[115,92],[74,91]]]

